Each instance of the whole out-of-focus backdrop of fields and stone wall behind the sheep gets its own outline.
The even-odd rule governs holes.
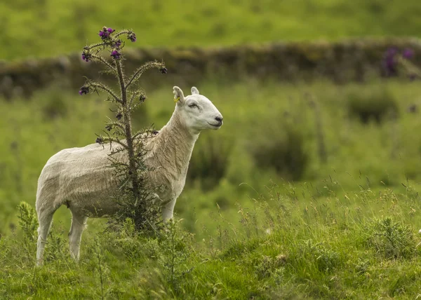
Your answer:
[[[146,60],[168,68],[142,77],[136,128],[168,121],[175,85],[224,116],[199,138],[175,206],[198,236],[217,207],[235,218],[271,182],[302,201],[420,189],[420,15],[416,0],[1,1],[0,235],[20,201],[34,205],[48,158],[95,142],[112,116],[104,95],[78,94],[83,76],[109,81],[81,60],[103,26],[137,34],[129,73]]]

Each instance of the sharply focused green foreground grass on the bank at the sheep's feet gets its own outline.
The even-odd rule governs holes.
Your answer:
[[[256,200],[243,226],[192,243],[175,229],[146,239],[87,231],[81,261],[69,258],[60,227],[46,264],[34,268],[34,238],[0,240],[0,292],[13,299],[413,299],[420,293],[419,196],[383,190],[332,193],[307,203],[276,193]],[[269,208],[269,210],[268,210]],[[246,209],[246,207],[243,207]],[[380,217],[387,215],[388,217]],[[258,216],[258,221],[253,219]],[[379,216],[379,217],[375,217]],[[175,227],[176,228],[176,227]],[[270,229],[270,233],[265,233]],[[227,230],[227,231],[225,231]],[[180,258],[171,261],[175,249]],[[102,278],[102,280],[101,280]],[[102,284],[101,284],[102,281]]]

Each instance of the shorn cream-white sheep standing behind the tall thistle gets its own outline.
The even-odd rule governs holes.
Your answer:
[[[163,221],[173,218],[175,201],[185,186],[194,143],[201,130],[218,130],[222,114],[208,98],[192,87],[192,95],[184,96],[178,86],[173,87],[175,110],[159,132],[147,139],[145,164],[148,182],[159,186],[154,193],[161,201]],[[43,263],[44,247],[54,212],[67,205],[72,212],[69,231],[69,250],[79,260],[79,246],[88,217],[106,217],[118,210],[109,196],[117,189],[118,181],[109,168],[112,150],[100,144],[64,149],[53,155],[41,171],[36,191],[36,213],[39,220],[36,244],[36,264]],[[120,152],[121,158],[126,156]],[[126,157],[127,159],[127,157]]]

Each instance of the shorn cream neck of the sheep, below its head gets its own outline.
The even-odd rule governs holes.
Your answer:
[[[176,112],[156,136],[160,142],[156,143],[159,148],[155,149],[155,157],[159,165],[171,172],[174,179],[185,179],[198,137],[199,133],[189,132]]]

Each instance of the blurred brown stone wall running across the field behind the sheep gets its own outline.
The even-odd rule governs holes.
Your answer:
[[[329,43],[326,41],[271,43],[262,46],[230,48],[156,48],[128,49],[128,74],[147,60],[163,60],[168,74],[149,71],[142,85],[159,87],[163,84],[198,85],[209,77],[236,80],[242,76],[279,81],[311,81],[324,78],[344,83],[365,81],[382,76],[382,57],[391,46],[412,48],[413,62],[421,65],[421,43],[418,39],[353,39]],[[83,62],[81,53],[40,60],[0,62],[0,96],[31,97],[32,93],[51,85],[78,90],[83,76],[91,79],[102,74],[102,65]]]

